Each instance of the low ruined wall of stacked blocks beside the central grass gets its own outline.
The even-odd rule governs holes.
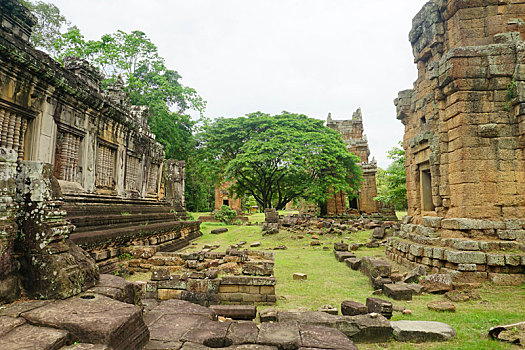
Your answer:
[[[146,297],[201,305],[274,304],[273,252],[149,253],[131,248],[130,269],[151,271]],[[219,275],[221,277],[219,278]]]

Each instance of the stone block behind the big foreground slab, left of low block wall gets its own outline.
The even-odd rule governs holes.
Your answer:
[[[95,287],[87,293],[97,293],[128,304],[140,303],[140,287],[115,275],[101,274]]]

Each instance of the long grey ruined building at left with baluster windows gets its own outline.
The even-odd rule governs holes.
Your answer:
[[[120,247],[173,247],[199,230],[177,220],[184,162],[165,166],[147,108],[130,105],[121,80],[101,91],[86,61],[62,67],[35,50],[35,23],[17,0],[0,2],[0,303],[19,285],[74,295],[114,269]]]

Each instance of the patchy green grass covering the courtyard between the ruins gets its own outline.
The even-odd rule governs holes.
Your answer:
[[[261,214],[251,216],[250,219],[261,220]],[[281,231],[277,235],[262,236],[260,226],[226,226],[229,231],[220,235],[211,235],[213,228],[225,227],[220,223],[203,223],[201,225],[203,237],[199,238],[196,246],[188,249],[200,249],[204,244],[218,244],[220,250],[240,241],[250,243],[260,241],[257,250],[269,249],[277,245],[286,245],[287,250],[275,251],[275,277],[277,278],[276,293],[278,302],[276,307],[281,310],[304,307],[315,310],[318,307],[331,304],[337,308],[343,300],[355,300],[364,303],[372,295],[370,283],[364,275],[346,267],[344,263],[335,260],[332,248],[333,243],[344,240],[351,242],[366,242],[371,231],[362,231],[355,234],[334,236],[319,236],[323,246],[310,246],[308,235],[304,239],[292,239],[293,233]],[[248,248],[252,249],[252,248]],[[356,252],[358,256],[384,256],[384,248],[362,249]],[[401,272],[405,269],[395,265]],[[308,275],[306,281],[294,281],[294,272]],[[490,327],[501,324],[510,324],[525,321],[525,286],[496,287],[485,284],[477,291],[482,300],[455,303],[455,313],[436,313],[427,309],[427,303],[442,300],[439,295],[416,296],[411,302],[393,301],[412,310],[412,315],[394,313],[392,320],[427,320],[440,321],[450,324],[457,332],[454,341],[443,344],[412,345],[391,342],[388,344],[361,344],[360,349],[514,349],[513,345],[487,339]]]

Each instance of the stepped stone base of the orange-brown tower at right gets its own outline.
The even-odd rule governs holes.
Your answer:
[[[405,222],[408,222],[406,220]],[[388,238],[387,256],[406,266],[451,274],[455,282],[525,282],[525,220],[423,217]]]

